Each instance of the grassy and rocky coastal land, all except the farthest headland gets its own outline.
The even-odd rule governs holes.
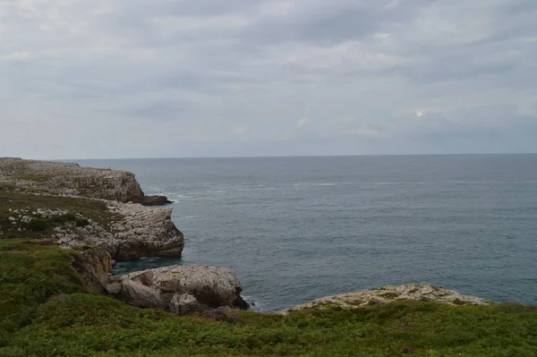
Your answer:
[[[320,344],[323,356],[537,353],[537,307],[434,285],[386,285],[259,313],[241,310],[242,285],[229,268],[113,276],[113,258],[180,256],[171,208],[53,195],[37,189],[41,179],[0,183],[0,355],[320,356]]]

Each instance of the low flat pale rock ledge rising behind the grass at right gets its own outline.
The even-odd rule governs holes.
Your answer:
[[[386,285],[378,289],[363,290],[355,293],[342,293],[325,296],[312,302],[307,302],[291,309],[281,311],[287,314],[294,310],[308,308],[323,308],[338,306],[344,309],[356,309],[376,303],[395,302],[398,300],[421,300],[440,302],[450,305],[487,304],[481,298],[458,293],[455,290],[439,288],[429,284]]]

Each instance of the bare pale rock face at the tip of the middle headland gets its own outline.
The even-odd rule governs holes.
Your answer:
[[[184,237],[172,222],[172,208],[144,208],[141,204],[107,201],[107,209],[123,217],[103,227],[88,220],[55,228],[53,238],[59,244],[96,245],[107,250],[115,260],[141,257],[181,257]]]

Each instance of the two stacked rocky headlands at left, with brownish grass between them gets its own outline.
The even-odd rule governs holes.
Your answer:
[[[172,208],[132,203],[146,198],[129,172],[0,158],[0,238],[95,245],[116,260],[181,257]]]

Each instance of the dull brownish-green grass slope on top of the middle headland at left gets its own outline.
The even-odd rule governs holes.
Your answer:
[[[34,217],[31,212],[37,211],[38,208],[63,210],[68,211],[68,213],[50,218]],[[33,219],[28,224],[17,221],[13,225],[9,217],[17,218],[20,213],[14,213],[13,210],[20,209],[28,210],[29,213],[23,215]],[[110,222],[120,221],[123,217],[110,213],[106,203],[100,200],[38,196],[28,192],[14,191],[13,188],[0,187],[0,231],[4,232],[0,237],[48,238],[54,233],[56,226],[62,226],[69,222],[77,226],[84,226],[90,223],[88,219],[92,219],[110,231]],[[24,230],[19,231],[19,228]]]

